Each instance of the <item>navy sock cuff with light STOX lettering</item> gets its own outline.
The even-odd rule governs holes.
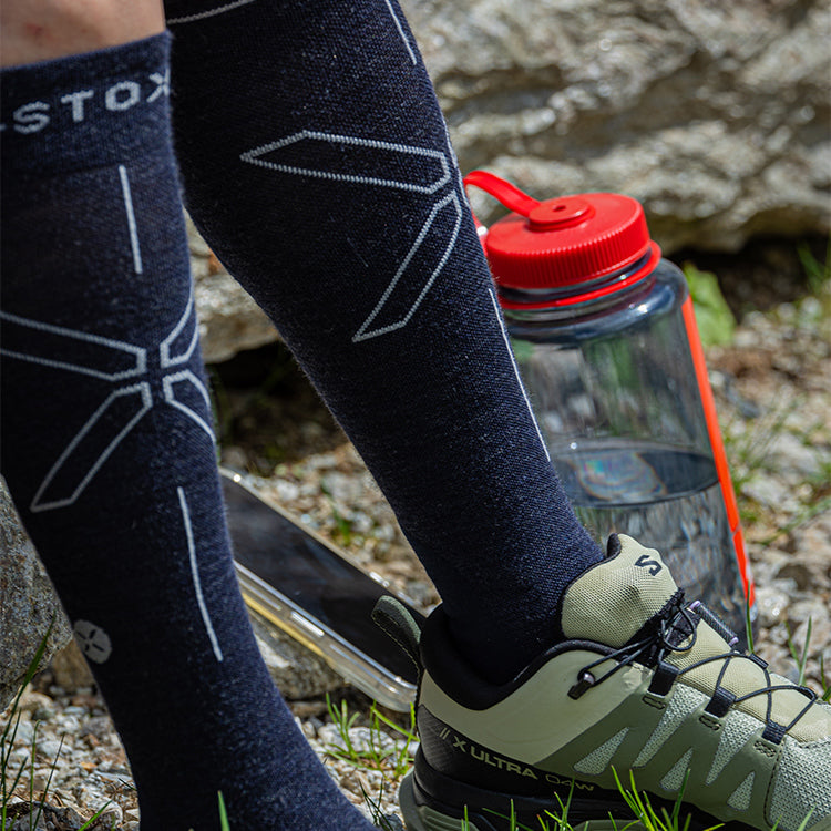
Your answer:
[[[3,173],[113,164],[171,141],[167,32],[0,74]]]

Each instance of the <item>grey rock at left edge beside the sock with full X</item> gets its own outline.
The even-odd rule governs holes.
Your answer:
[[[44,664],[72,633],[0,478],[0,712],[18,691],[53,619]]]

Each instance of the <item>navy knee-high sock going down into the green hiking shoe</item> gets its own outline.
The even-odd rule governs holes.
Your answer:
[[[188,208],[366,460],[458,645],[504,680],[602,555],[519,382],[412,34],[394,0],[213,7],[166,4]]]

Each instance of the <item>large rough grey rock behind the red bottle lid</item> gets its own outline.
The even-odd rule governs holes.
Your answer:
[[[829,230],[824,0],[403,7],[463,171],[538,198],[627,193],[669,252]]]

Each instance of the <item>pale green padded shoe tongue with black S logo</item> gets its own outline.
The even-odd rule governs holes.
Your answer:
[[[678,591],[655,548],[613,534],[606,560],[592,566],[566,589],[563,634],[620,647]]]

